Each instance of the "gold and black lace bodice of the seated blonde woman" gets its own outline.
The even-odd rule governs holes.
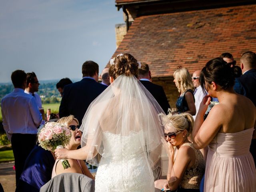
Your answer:
[[[194,150],[196,160],[193,166],[186,168],[184,176],[180,182],[180,186],[186,189],[199,189],[199,185],[205,170],[204,157],[200,150],[196,150],[192,146],[192,143],[185,143],[183,145],[188,145]]]

